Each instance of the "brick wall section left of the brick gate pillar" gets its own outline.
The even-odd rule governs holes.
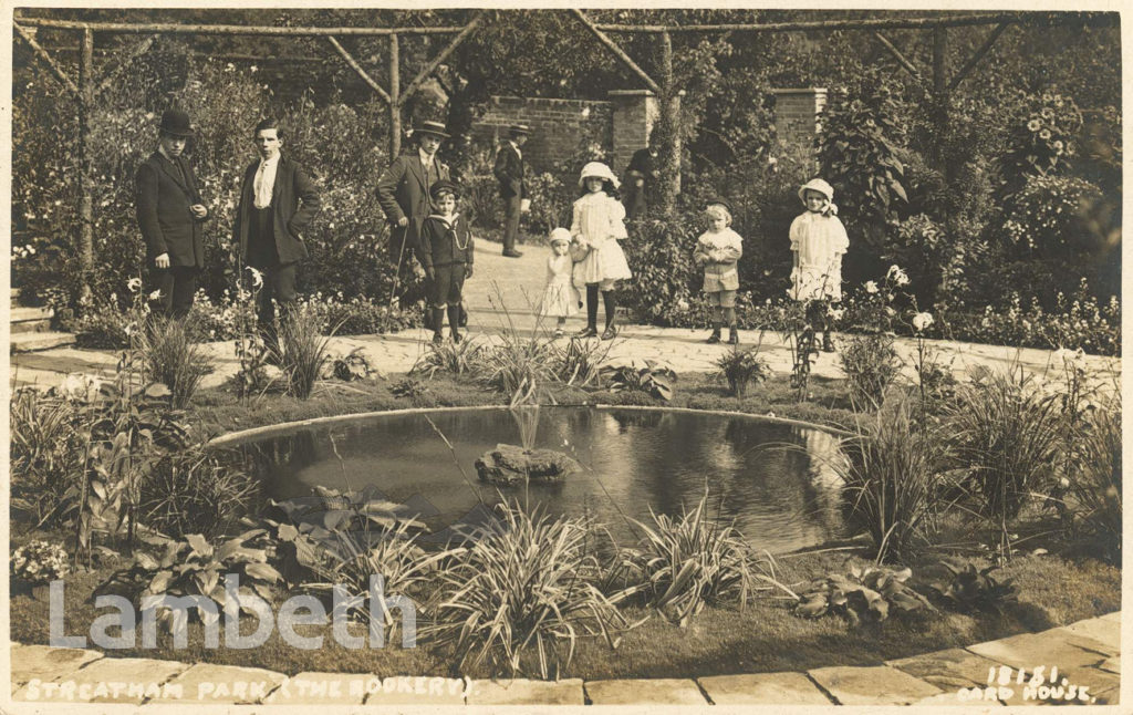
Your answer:
[[[583,141],[607,150],[613,142],[611,102],[518,96],[492,97],[487,112],[472,126],[472,139],[499,144],[508,138],[508,127],[513,124],[531,128],[523,159],[536,171],[550,170]]]

